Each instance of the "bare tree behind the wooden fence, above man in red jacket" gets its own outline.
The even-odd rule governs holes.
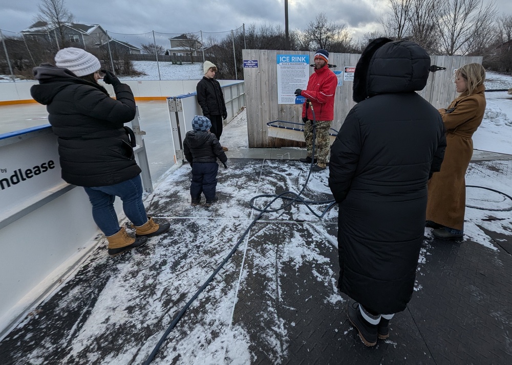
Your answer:
[[[309,38],[309,49],[314,51],[318,48],[329,50],[335,42],[347,40],[347,25],[339,25],[329,20],[326,13],[319,13],[314,21],[310,21],[308,28],[304,31]],[[351,40],[351,38],[350,38]]]

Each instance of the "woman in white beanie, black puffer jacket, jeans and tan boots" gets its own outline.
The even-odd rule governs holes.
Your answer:
[[[124,127],[135,117],[130,86],[110,71],[103,81],[112,84],[116,100],[98,84],[100,62],[89,52],[65,48],[50,63],[34,68],[39,81],[31,95],[47,106],[48,120],[58,136],[62,178],[84,187],[92,204],[93,218],[109,240],[109,254],[117,255],[142,245],[147,237],[169,229],[146,215],[142,203],[140,168],[133,151],[133,131]],[[136,238],[121,229],[114,210],[115,197],[136,227]]]

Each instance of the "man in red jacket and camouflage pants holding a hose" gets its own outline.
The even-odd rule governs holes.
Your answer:
[[[312,171],[322,171],[326,168],[329,155],[330,141],[329,129],[334,119],[334,93],[338,79],[329,70],[329,52],[318,50],[315,53],[315,72],[311,74],[306,90],[296,89],[295,95],[301,95],[309,99],[313,105],[314,120],[316,120],[315,162]],[[306,140],[307,157],[300,161],[310,164],[313,158],[313,111],[306,109],[306,103],[302,108],[302,120],[304,122],[304,139]]]

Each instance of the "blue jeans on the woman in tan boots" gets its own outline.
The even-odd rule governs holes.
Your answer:
[[[142,203],[142,181],[140,175],[130,180],[109,186],[83,188],[93,206],[93,219],[105,236],[115,235],[121,227],[114,210],[116,196],[123,202],[123,211],[136,226],[147,222],[146,210]]]

